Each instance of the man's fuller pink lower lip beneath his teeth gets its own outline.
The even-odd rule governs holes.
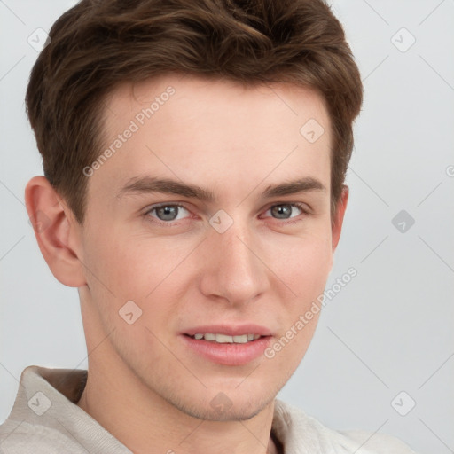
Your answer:
[[[224,365],[244,365],[254,361],[263,355],[271,341],[271,336],[265,336],[244,344],[222,344],[204,339],[195,340],[185,334],[181,337],[192,351],[213,363]]]

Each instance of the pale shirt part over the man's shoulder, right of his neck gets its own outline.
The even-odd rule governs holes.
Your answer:
[[[336,431],[294,405],[279,400],[275,404],[273,429],[291,453],[415,454],[394,436],[364,430]]]

